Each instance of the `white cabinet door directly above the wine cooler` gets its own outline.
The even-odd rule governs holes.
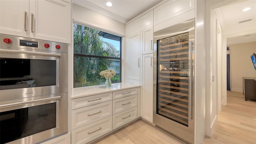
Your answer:
[[[193,10],[195,0],[169,0],[154,9],[154,25]]]

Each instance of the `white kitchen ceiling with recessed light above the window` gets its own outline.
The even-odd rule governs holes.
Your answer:
[[[73,0],[73,3],[126,23],[163,0]],[[106,6],[112,2],[113,6]]]

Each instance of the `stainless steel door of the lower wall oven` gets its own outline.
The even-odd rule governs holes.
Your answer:
[[[68,131],[68,94],[0,102],[0,144],[34,144]]]

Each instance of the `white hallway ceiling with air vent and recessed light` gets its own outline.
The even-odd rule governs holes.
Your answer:
[[[242,12],[247,7],[251,9]],[[215,10],[227,44],[256,41],[256,0],[237,0]],[[246,20],[250,21],[242,22]]]

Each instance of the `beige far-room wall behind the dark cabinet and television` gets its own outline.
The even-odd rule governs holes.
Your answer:
[[[243,92],[243,77],[256,77],[250,56],[256,53],[256,41],[228,45],[230,49],[230,90]]]

